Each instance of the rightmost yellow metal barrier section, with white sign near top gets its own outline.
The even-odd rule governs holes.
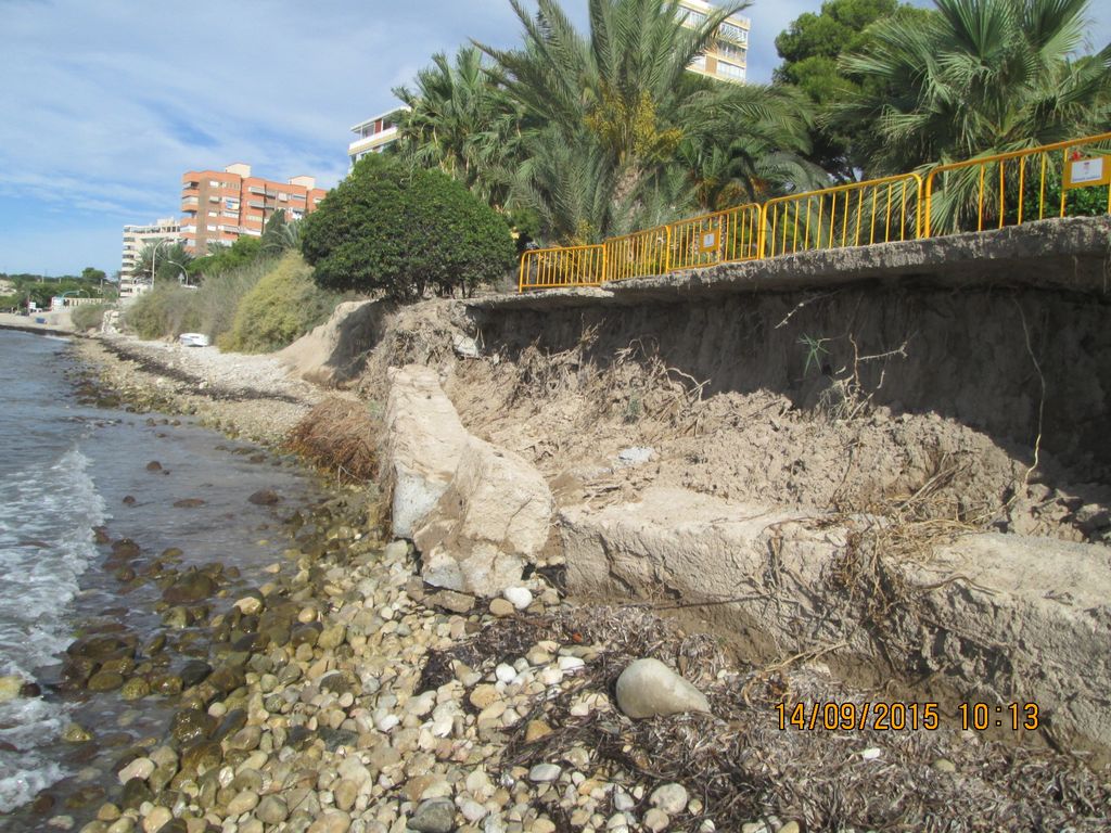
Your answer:
[[[1111,213],[1111,188],[1105,200],[1090,190],[1111,182],[1109,153],[1111,133],[1101,133],[939,165],[925,178],[923,237]]]

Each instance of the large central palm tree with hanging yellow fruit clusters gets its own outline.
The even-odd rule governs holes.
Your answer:
[[[521,0],[510,3],[524,27],[523,47],[479,48],[496,61],[491,73],[500,84],[547,126],[527,142],[527,154],[540,155],[516,173],[510,195],[553,223],[548,231],[561,241],[599,240],[628,229],[633,215],[659,217],[668,205],[685,212],[693,192],[675,187],[672,169],[708,144],[721,144],[727,155],[730,148],[805,147],[798,99],[687,72],[718,27],[747,2],[727,3],[688,29],[677,0],[590,0],[587,37],[556,0],[538,0],[534,18]],[[761,96],[765,101],[758,106]],[[747,144],[752,137],[760,141]],[[580,187],[591,180],[575,199],[565,191],[568,181],[559,181],[571,170]],[[688,177],[697,173],[688,170]]]

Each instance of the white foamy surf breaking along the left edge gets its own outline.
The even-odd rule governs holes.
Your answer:
[[[71,642],[67,620],[78,580],[96,556],[92,528],[104,501],[77,446],[52,465],[0,478],[0,674],[27,680]],[[38,697],[0,703],[0,812],[66,775],[36,750],[58,737],[66,709]]]

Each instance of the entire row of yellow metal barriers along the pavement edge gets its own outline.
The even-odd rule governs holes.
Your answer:
[[[1111,133],[851,182],[521,255],[519,291],[1111,213]]]

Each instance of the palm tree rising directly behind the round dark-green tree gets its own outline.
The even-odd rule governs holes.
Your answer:
[[[504,200],[494,171],[510,167],[521,143],[521,107],[488,74],[476,47],[463,47],[452,64],[438,52],[417,73],[416,90],[393,93],[410,107],[398,118],[398,148],[419,168],[439,167],[496,207]]]

